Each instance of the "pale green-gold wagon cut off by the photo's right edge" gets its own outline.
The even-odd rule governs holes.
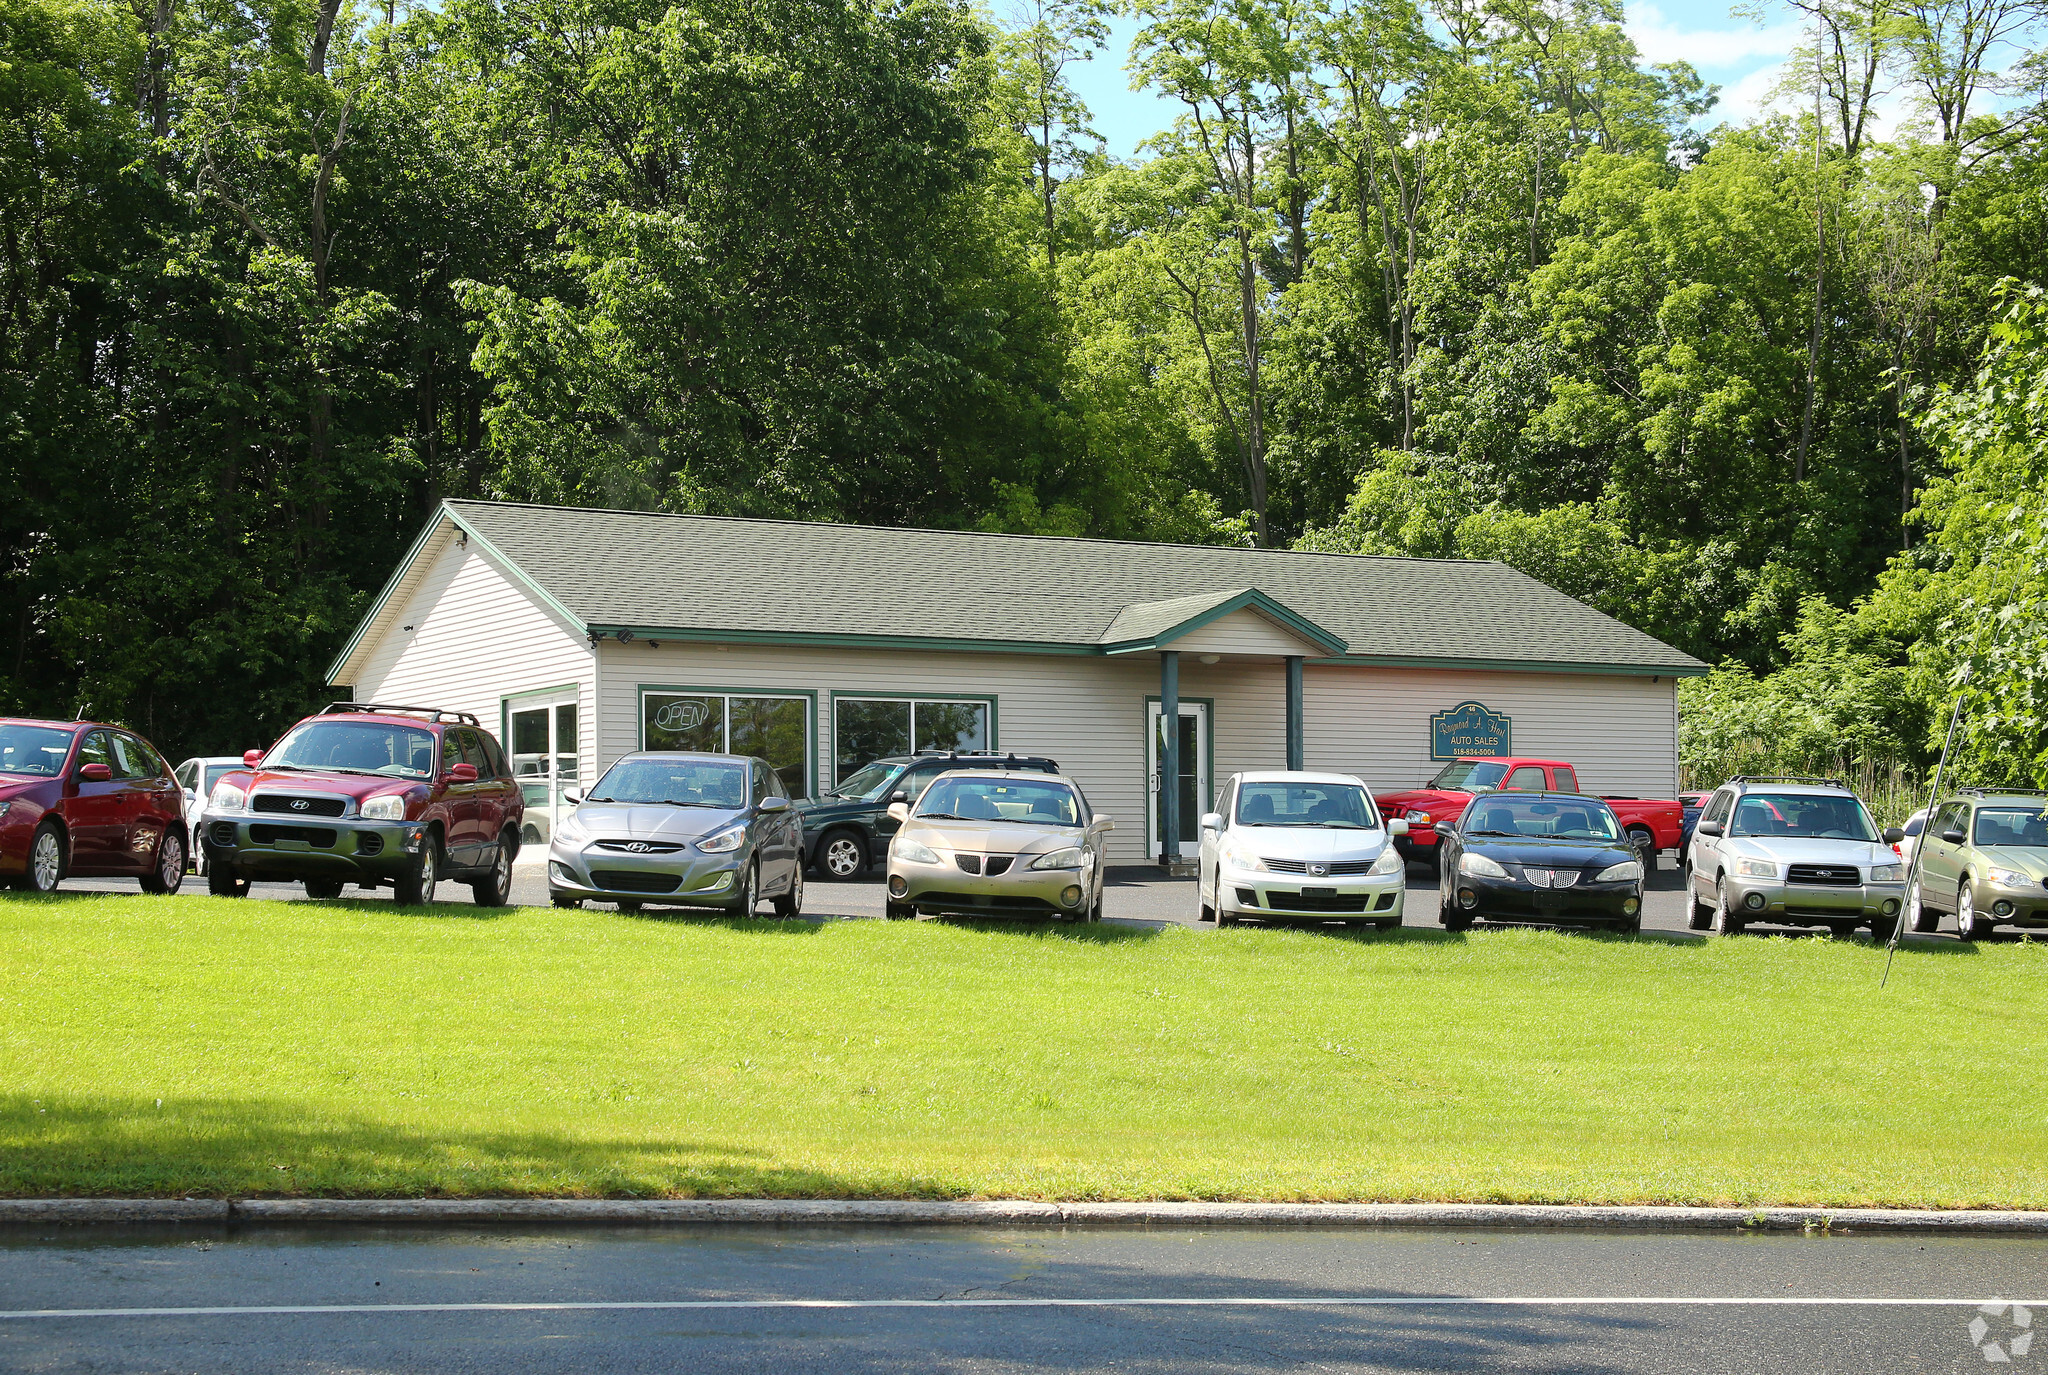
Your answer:
[[[1966,787],[1937,805],[1907,912],[1913,930],[1937,930],[1954,912],[1964,941],[2048,926],[2048,793]]]

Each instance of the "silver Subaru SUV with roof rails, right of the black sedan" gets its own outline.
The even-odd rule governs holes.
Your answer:
[[[1835,779],[1729,779],[1700,811],[1686,848],[1690,926],[1718,934],[1749,922],[1870,926],[1890,941],[1905,906],[1907,865],[1870,809]]]

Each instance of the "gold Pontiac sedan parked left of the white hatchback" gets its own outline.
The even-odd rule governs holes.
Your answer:
[[[895,918],[1057,916],[1102,920],[1102,836],[1073,779],[961,768],[915,803],[889,807],[901,828],[889,842]]]

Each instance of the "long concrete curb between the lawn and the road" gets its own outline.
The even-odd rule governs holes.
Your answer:
[[[1032,1199],[0,1199],[49,1223],[772,1223],[1145,1227],[1565,1227],[2048,1236],[2048,1211],[1569,1207],[1538,1203],[1038,1203]]]

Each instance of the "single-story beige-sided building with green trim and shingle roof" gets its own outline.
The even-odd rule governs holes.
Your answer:
[[[758,754],[801,797],[975,748],[1059,760],[1128,863],[1243,768],[1544,754],[1669,797],[1700,672],[1505,564],[451,500],[328,676],[496,723],[530,836],[631,750]]]

